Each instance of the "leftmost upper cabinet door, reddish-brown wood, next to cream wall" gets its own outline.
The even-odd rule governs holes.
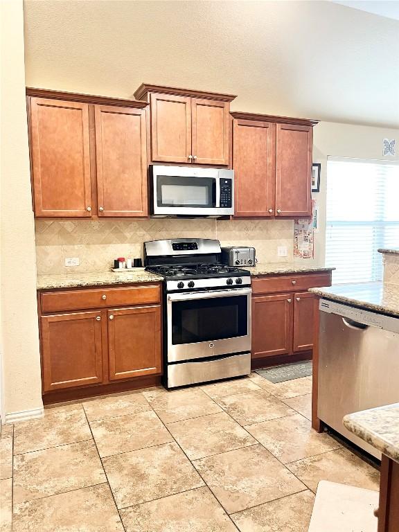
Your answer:
[[[37,217],[91,216],[89,106],[30,98],[30,154]]]

